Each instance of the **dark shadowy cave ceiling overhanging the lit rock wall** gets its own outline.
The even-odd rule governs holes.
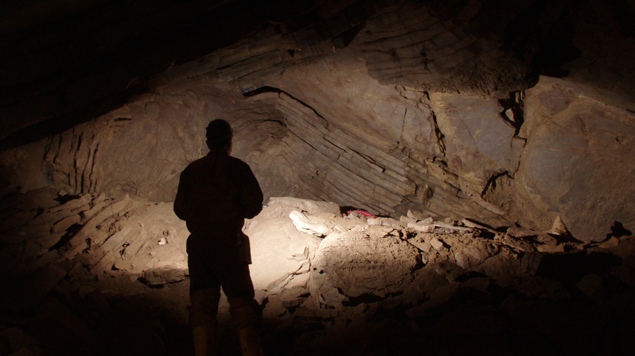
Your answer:
[[[382,85],[496,97],[550,75],[635,109],[632,1],[69,0],[0,13],[2,147],[182,78],[256,90],[353,39]]]

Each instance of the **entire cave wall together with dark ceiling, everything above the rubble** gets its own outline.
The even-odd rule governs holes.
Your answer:
[[[238,128],[235,154],[269,196],[495,227],[544,230],[562,216],[597,240],[614,221],[635,224],[634,165],[624,164],[635,154],[634,8],[3,4],[0,150],[17,149],[0,155],[13,170],[3,183],[169,201],[215,116]],[[25,183],[30,159],[44,176]]]

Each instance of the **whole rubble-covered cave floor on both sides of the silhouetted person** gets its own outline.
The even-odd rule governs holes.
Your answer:
[[[188,355],[171,204],[50,189],[1,202],[0,355]],[[270,355],[633,351],[635,238],[574,240],[271,198],[244,228]],[[229,305],[226,355],[238,355]]]

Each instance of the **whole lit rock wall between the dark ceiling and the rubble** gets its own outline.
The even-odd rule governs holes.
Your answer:
[[[3,152],[4,193],[52,185],[171,201],[180,172],[206,152],[205,125],[225,118],[236,129],[234,155],[267,197],[538,231],[560,216],[585,241],[635,225],[624,164],[634,153],[632,113],[548,78],[509,99],[380,85],[354,58],[288,70],[248,97],[222,82],[166,87]]]

